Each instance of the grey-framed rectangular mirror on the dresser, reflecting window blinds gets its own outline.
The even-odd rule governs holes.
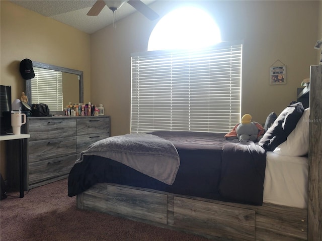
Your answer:
[[[32,103],[45,103],[48,104],[50,112],[63,111],[69,102],[83,103],[84,102],[84,82],[83,82],[83,71],[68,69],[55,65],[40,63],[32,61],[35,72],[35,78],[26,80],[26,95],[28,96],[28,104],[31,106]],[[48,81],[54,78],[59,82],[60,85],[55,86],[42,86],[42,81]],[[35,87],[37,86],[37,87]],[[57,98],[57,104],[46,103],[46,101],[33,101],[32,96],[37,96],[37,93],[44,93],[49,96],[49,89],[54,89],[55,98]],[[52,91],[52,90],[51,90]]]

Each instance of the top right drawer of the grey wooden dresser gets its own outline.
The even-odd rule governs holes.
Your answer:
[[[108,117],[77,118],[77,136],[93,133],[109,133],[109,122]]]

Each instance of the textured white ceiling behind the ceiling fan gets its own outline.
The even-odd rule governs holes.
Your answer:
[[[107,6],[104,7],[98,16],[87,16],[95,1],[10,1],[25,9],[34,11],[43,16],[57,20],[58,22],[70,25],[88,34],[92,34],[108,25],[113,24],[113,12]],[[142,1],[150,4],[153,1]],[[120,9],[115,11],[116,21],[134,13],[136,10],[125,3]]]

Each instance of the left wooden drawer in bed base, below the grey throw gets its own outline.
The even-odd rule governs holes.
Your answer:
[[[77,196],[77,207],[101,210],[104,206],[112,215],[167,224],[167,201],[166,194],[99,183]]]

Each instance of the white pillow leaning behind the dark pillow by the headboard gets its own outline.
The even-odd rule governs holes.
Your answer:
[[[275,148],[275,153],[284,156],[304,156],[308,153],[309,114],[309,108],[305,109],[295,129],[285,142]]]

